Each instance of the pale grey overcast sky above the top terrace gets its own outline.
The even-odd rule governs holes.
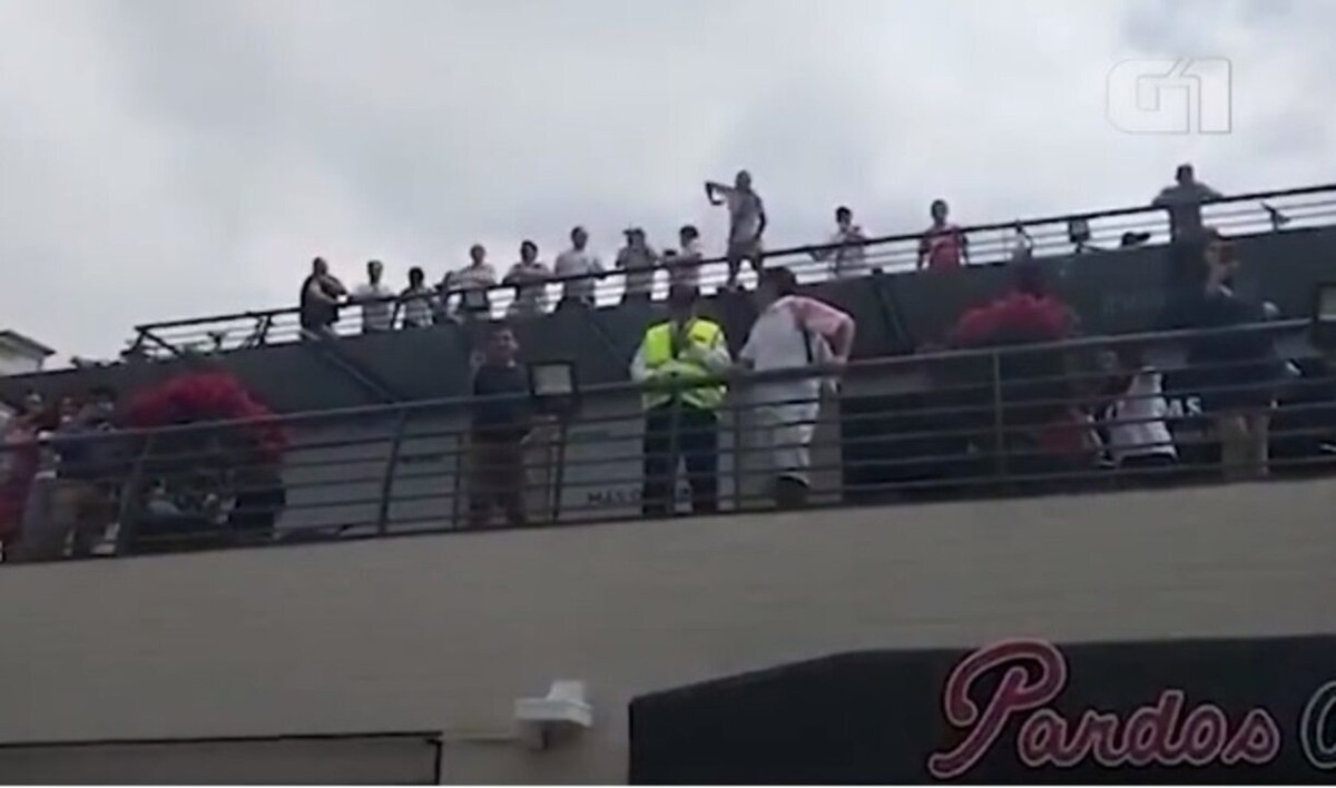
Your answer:
[[[112,355],[139,322],[295,299],[314,254],[432,280],[587,224],[771,246],[1332,180],[1324,0],[0,0],[0,329]],[[1323,32],[1327,31],[1327,32]],[[1129,135],[1106,75],[1224,56],[1229,135]]]

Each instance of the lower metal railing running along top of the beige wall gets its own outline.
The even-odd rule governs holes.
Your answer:
[[[102,461],[103,475],[60,465],[53,478],[33,483],[7,560],[764,512],[799,504],[778,498],[775,479],[803,449],[810,459],[800,504],[814,508],[1336,469],[1336,379],[1305,331],[1305,322],[1291,321],[871,359],[838,375],[811,369],[733,375],[711,383],[729,387],[717,423],[692,418],[680,397],[672,399],[664,411],[672,426],[656,433],[661,439],[648,455],[673,470],[657,493],[648,490],[649,501],[643,390],[631,385],[581,391],[573,415],[536,417],[521,443],[501,441],[500,451],[470,437],[470,413],[504,398],[275,417],[267,421],[289,434],[281,461],[255,459],[248,449],[247,430],[259,422],[126,430],[87,439],[118,446],[114,459]],[[1189,353],[1204,338],[1224,335],[1267,338],[1277,351],[1213,362]],[[1137,349],[1165,375],[1168,389],[1145,410],[1150,415],[1102,409],[1112,377],[1100,358],[1120,347]],[[792,413],[795,405],[811,410],[812,391],[803,383],[820,381],[828,385],[819,415]],[[1236,422],[1216,417],[1244,406],[1269,415],[1269,459],[1240,454],[1237,435],[1220,433]],[[807,426],[792,429],[795,419]],[[1130,433],[1120,427],[1152,422],[1169,427],[1178,461],[1116,462],[1150,449],[1129,445]],[[810,442],[802,435],[807,427]],[[692,439],[701,437],[709,449]],[[11,461],[24,450],[33,446],[8,447]],[[691,483],[701,479],[712,482]],[[480,494],[489,497],[485,521]],[[33,506],[31,496],[44,504]]]

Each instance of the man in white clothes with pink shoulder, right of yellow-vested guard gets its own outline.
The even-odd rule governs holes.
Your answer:
[[[745,369],[843,369],[854,347],[855,323],[847,313],[798,295],[798,278],[786,267],[760,274],[756,299],[760,317],[739,354]],[[818,375],[766,381],[751,390],[758,451],[766,462],[772,494],[780,508],[800,506],[811,486],[811,442],[820,415],[823,390],[831,378]]]

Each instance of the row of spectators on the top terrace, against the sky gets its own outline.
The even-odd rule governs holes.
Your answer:
[[[739,290],[744,266],[754,274],[764,267],[764,238],[770,227],[766,203],[747,171],[737,172],[732,184],[707,182],[705,196],[709,204],[727,210],[728,235],[721,258],[727,263],[727,278],[723,288]],[[1204,228],[1201,206],[1218,199],[1222,199],[1220,192],[1198,182],[1192,166],[1184,164],[1176,174],[1174,184],[1156,195],[1152,207],[1168,212],[1172,238],[1181,243]],[[929,216],[930,224],[919,236],[916,270],[950,271],[969,266],[970,239],[965,228],[951,220],[947,202],[933,200]],[[489,259],[489,251],[482,244],[473,244],[465,267],[446,272],[436,283],[429,283],[421,267],[411,267],[402,288],[385,282],[381,260],[367,262],[365,282],[347,287],[330,271],[323,258],[317,258],[301,288],[301,326],[310,334],[327,334],[333,331],[341,307],[361,310],[365,333],[466,321],[492,314],[492,295],[497,288],[513,292],[506,310],[512,318],[540,315],[550,306],[591,307],[595,306],[599,279],[615,274],[624,282],[624,303],[651,301],[660,271],[667,287],[701,286],[701,266],[707,258],[695,224],[684,224],[677,231],[676,247],[669,244],[661,250],[651,243],[644,227],[628,227],[624,235],[624,246],[611,267],[591,248],[589,231],[574,227],[569,234],[569,247],[557,254],[550,266],[542,262],[536,242],[524,240],[517,262],[502,274]],[[1144,240],[1138,234],[1128,235],[1136,236],[1133,240]],[[864,276],[878,270],[868,260],[870,240],[870,235],[855,222],[852,208],[839,206],[830,239],[812,248],[810,255],[830,278]],[[1077,239],[1077,243],[1085,248],[1085,239]],[[1018,223],[1011,259],[1029,259],[1033,247],[1029,232]],[[554,305],[549,305],[548,287],[553,283],[558,283],[560,295]]]

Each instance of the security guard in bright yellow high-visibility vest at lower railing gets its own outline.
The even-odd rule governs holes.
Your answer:
[[[727,373],[732,358],[719,323],[696,317],[697,297],[691,286],[669,288],[668,319],[645,330],[631,362],[631,378],[645,387],[640,504],[647,516],[673,512],[679,458],[692,513],[719,510],[717,411],[727,389],[709,379]]]

